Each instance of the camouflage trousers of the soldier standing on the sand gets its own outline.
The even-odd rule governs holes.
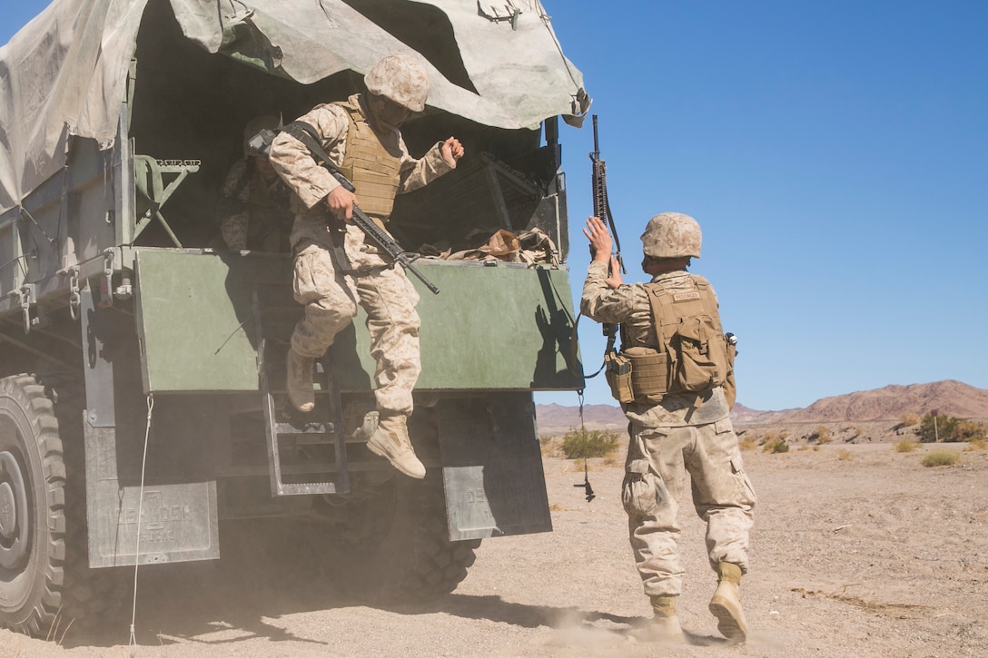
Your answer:
[[[683,567],[676,522],[686,471],[706,522],[711,568],[733,562],[748,571],[748,530],[757,498],[744,472],[730,420],[695,427],[631,426],[621,498],[638,574],[647,596],[680,594]]]

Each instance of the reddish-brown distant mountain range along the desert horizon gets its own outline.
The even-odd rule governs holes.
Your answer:
[[[988,390],[953,379],[908,386],[892,384],[825,397],[805,409],[758,411],[736,404],[731,420],[736,425],[865,422],[898,420],[907,413],[923,416],[934,410],[957,418],[988,418]],[[565,434],[580,427],[579,407],[539,404],[535,405],[535,416],[540,435]],[[590,430],[623,431],[627,426],[617,404],[588,404],[583,408],[583,421]]]

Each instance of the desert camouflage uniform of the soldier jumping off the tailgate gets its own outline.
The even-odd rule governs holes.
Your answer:
[[[359,95],[350,97],[360,105]],[[340,105],[320,105],[298,121],[312,125],[322,146],[337,166],[346,155],[350,119]],[[404,139],[395,129],[378,135],[381,144],[400,159],[398,193],[411,192],[452,170],[437,143],[421,159],[408,153]],[[294,192],[296,214],[291,230],[294,254],[294,297],[305,305],[305,315],[295,326],[291,347],[303,357],[319,358],[333,344],[336,334],[357,314],[360,303],[367,311],[371,333],[374,396],[377,409],[408,415],[412,412],[412,389],[422,364],[419,356],[419,295],[400,267],[381,269],[378,274],[351,277],[338,271],[331,256],[333,244],[327,221],[326,195],[339,187],[335,178],[316,164],[308,149],[287,133],[280,133],[271,148],[271,162]],[[361,190],[356,192],[358,203]],[[369,213],[370,214],[370,213]],[[386,216],[371,218],[385,221]],[[363,231],[347,224],[345,250],[354,269],[382,267],[385,261],[365,243]]]

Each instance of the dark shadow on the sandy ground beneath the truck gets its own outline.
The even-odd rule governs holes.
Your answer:
[[[193,640],[210,646],[235,647],[254,638],[271,642],[324,644],[301,637],[265,619],[300,613],[368,607],[401,616],[446,614],[525,628],[586,628],[616,637],[648,639],[649,619],[619,617],[573,607],[532,606],[504,601],[499,596],[449,594],[428,603],[383,604],[359,595],[340,594],[341,574],[300,572],[267,563],[251,568],[222,562],[161,565],[141,570],[138,577],[135,634],[141,644],[167,646]],[[66,649],[109,647],[129,637],[132,601],[124,615],[104,619],[91,628],[70,628],[61,642]],[[723,640],[690,635],[691,643],[709,645]]]

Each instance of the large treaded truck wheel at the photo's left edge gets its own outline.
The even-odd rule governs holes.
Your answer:
[[[65,465],[35,377],[0,379],[0,625],[45,633],[61,605]]]

